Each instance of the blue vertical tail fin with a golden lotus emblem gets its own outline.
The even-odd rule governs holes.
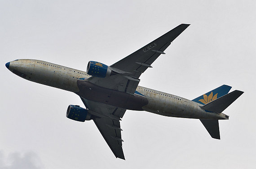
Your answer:
[[[220,86],[214,90],[211,90],[210,92],[207,92],[207,93],[203,94],[202,96],[199,96],[199,97],[193,99],[192,101],[195,101],[197,103],[205,105],[205,104],[207,104],[213,100],[216,100],[217,98],[229,93],[231,88],[232,88],[231,86],[223,84],[222,86]]]

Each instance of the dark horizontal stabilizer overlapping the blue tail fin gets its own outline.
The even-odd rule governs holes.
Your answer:
[[[202,109],[207,111],[212,111],[216,113],[221,113],[228,106],[230,106],[239,96],[243,94],[242,91],[235,90],[231,93],[228,93],[216,100],[213,100],[206,105],[200,106]]]

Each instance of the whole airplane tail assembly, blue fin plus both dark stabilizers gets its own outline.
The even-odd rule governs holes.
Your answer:
[[[230,89],[231,86],[224,84],[208,93],[203,94],[200,97],[195,98],[192,101],[203,104],[203,106],[200,107],[206,112],[215,112],[220,114],[243,94],[243,92],[239,90],[229,93]],[[200,119],[200,121],[203,123],[203,126],[206,128],[212,138],[221,139],[219,121],[217,119]]]

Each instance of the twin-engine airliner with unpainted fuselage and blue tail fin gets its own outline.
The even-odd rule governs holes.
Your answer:
[[[86,108],[69,105],[66,117],[93,120],[116,158],[124,159],[120,120],[126,110],[148,111],[168,117],[196,118],[214,139],[220,139],[219,122],[243,92],[221,85],[193,100],[138,86],[142,73],[190,24],[181,24],[124,59],[107,66],[89,61],[86,72],[35,59],[16,59],[5,64],[14,74],[36,83],[77,94]]]

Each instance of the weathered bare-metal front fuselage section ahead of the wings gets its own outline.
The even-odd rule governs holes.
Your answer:
[[[76,84],[79,78],[90,77],[84,71],[34,59],[12,61],[9,70],[13,73],[18,71],[26,75],[26,77],[21,76],[26,80],[71,92],[79,92]]]

